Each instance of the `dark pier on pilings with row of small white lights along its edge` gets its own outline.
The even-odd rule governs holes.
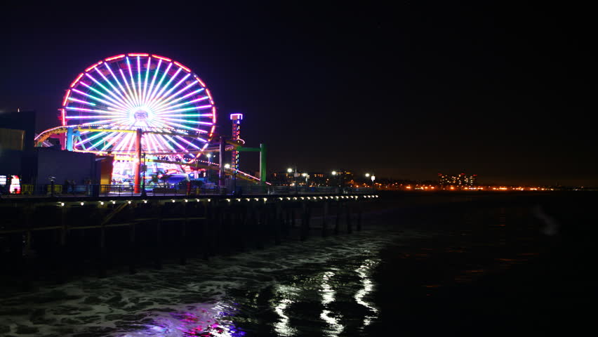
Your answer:
[[[10,199],[0,203],[4,272],[22,286],[127,267],[185,265],[311,235],[361,230],[378,194]]]

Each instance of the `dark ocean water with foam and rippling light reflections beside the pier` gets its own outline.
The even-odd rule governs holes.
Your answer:
[[[489,289],[521,298],[531,276],[518,266],[559,237],[535,206],[391,203],[353,234],[314,229],[306,242],[4,293],[0,336],[452,336],[497,315],[505,326],[516,300]]]

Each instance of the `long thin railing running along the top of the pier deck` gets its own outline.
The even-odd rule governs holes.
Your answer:
[[[145,190],[145,191],[143,191]],[[60,184],[39,184],[22,185],[20,190],[0,191],[2,198],[20,197],[160,197],[160,196],[201,196],[201,195],[252,195],[252,194],[359,194],[371,193],[369,187],[335,187],[335,186],[242,186],[242,187],[220,187],[215,185],[177,186],[158,185],[60,185]]]

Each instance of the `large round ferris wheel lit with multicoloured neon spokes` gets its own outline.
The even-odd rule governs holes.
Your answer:
[[[128,53],[79,74],[62,100],[62,125],[77,126],[72,150],[133,154],[135,132],[145,153],[205,150],[216,123],[209,89],[184,65],[159,55]]]

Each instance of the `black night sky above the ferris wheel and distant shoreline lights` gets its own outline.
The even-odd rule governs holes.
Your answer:
[[[206,81],[220,132],[245,114],[242,138],[267,144],[271,172],[598,186],[590,8],[211,2],[1,8],[0,110],[58,125],[88,65],[156,53]],[[257,171],[257,155],[241,154],[241,170]]]

